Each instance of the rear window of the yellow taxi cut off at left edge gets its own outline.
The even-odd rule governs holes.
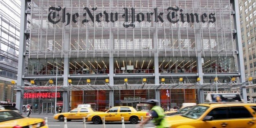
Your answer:
[[[14,112],[12,110],[0,112],[0,122],[10,121],[13,119],[22,119],[22,118],[24,118],[24,117],[22,117],[21,115],[19,115],[18,113]]]

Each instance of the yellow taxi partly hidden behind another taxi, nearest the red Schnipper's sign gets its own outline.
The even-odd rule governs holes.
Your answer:
[[[83,117],[86,117],[90,113],[99,113],[93,108],[75,108],[71,110],[68,113],[58,113],[53,116],[54,119],[58,119],[60,121],[64,121],[64,117],[67,118],[67,121],[71,120],[78,120],[78,119],[83,119]]]

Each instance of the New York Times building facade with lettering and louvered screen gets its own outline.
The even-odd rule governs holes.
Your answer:
[[[64,111],[77,104],[146,109],[147,99],[168,109],[245,83],[237,0],[22,3],[20,108],[53,113],[56,97]]]

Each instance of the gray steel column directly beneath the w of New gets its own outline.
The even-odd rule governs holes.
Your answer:
[[[109,57],[109,84],[114,85],[114,57]],[[109,106],[114,106],[114,90],[109,90]]]

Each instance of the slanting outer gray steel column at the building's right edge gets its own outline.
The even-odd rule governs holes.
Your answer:
[[[233,9],[235,11],[234,15],[234,29],[236,29],[236,34],[234,35],[234,38],[236,40],[236,50],[238,50],[238,54],[236,54],[237,58],[237,67],[238,67],[238,73],[240,73],[239,76],[239,82],[244,83],[245,82],[245,66],[243,62],[243,46],[242,46],[242,35],[241,35],[241,26],[240,26],[240,17],[239,17],[239,4],[238,0],[230,0],[230,2],[233,5]],[[246,88],[241,87],[242,90],[242,96],[245,102],[247,102],[247,93]]]

